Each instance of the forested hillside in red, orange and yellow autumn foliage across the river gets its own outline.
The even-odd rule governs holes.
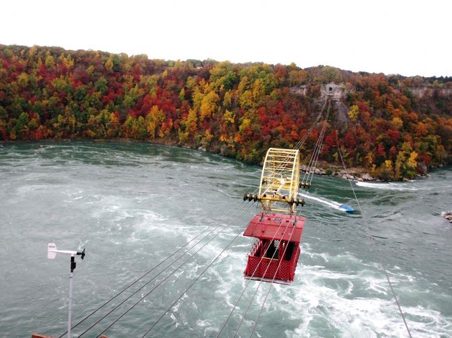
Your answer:
[[[268,146],[291,147],[304,135],[327,83],[342,95],[328,120],[325,166],[339,164],[336,130],[348,166],[380,178],[452,162],[452,78],[56,47],[0,45],[0,140],[125,138],[256,163]]]

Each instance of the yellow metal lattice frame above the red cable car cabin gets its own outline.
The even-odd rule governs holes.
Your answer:
[[[300,152],[270,148],[262,167],[259,201],[262,210],[293,213],[300,187]],[[282,208],[282,206],[286,208]]]

